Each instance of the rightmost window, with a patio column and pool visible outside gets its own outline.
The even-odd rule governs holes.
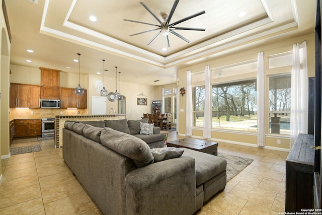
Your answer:
[[[270,133],[290,134],[291,75],[269,78]]]

